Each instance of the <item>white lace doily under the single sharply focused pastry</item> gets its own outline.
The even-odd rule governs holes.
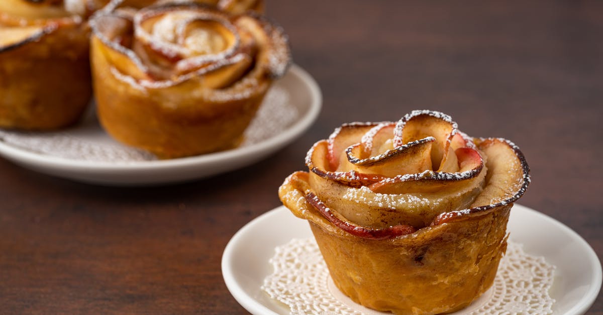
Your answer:
[[[288,305],[291,314],[388,314],[356,304],[335,287],[314,238],[276,247],[270,263],[274,273],[264,279],[262,290]],[[455,314],[551,314],[554,270],[543,257],[509,241],[490,290]]]

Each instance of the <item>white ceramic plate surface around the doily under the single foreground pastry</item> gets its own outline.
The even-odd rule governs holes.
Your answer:
[[[544,256],[557,266],[549,292],[556,300],[553,314],[584,314],[595,302],[602,275],[601,263],[589,244],[559,221],[521,205],[513,206],[508,231],[526,253]],[[239,230],[222,256],[224,281],[236,301],[253,314],[289,314],[288,307],[271,299],[260,286],[272,273],[268,260],[274,247],[308,237],[312,237],[308,223],[284,206]]]

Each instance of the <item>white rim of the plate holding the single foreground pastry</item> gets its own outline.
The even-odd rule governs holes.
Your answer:
[[[517,207],[517,208],[516,208]],[[538,217],[538,220],[545,220],[549,223],[554,224],[557,228],[560,228],[564,234],[569,236],[573,241],[577,241],[580,243],[581,248],[586,249],[586,258],[593,264],[593,276],[592,281],[589,283],[589,290],[573,305],[569,310],[564,314],[584,314],[590,307],[592,307],[593,303],[596,301],[598,297],[599,291],[601,290],[601,284],[603,281],[603,270],[601,267],[601,261],[599,261],[598,256],[596,255],[595,250],[590,246],[590,244],[584,240],[577,232],[573,231],[571,228],[561,223],[555,218],[549,217],[542,212],[539,212],[535,209],[529,208],[527,206],[523,206],[515,203],[514,209],[520,212],[526,212],[529,215],[535,215]],[[224,248],[224,252],[221,259],[221,270],[224,278],[224,282],[226,287],[232,294],[233,298],[245,308],[245,310],[250,311],[252,314],[271,314],[271,315],[279,315],[279,313],[270,310],[264,304],[260,303],[256,299],[248,296],[247,293],[243,290],[243,288],[238,284],[235,279],[234,270],[230,268],[232,266],[232,258],[235,254],[235,246],[245,237],[247,237],[248,231],[250,231],[254,226],[262,223],[262,221],[267,220],[268,217],[273,215],[278,215],[280,212],[289,211],[285,206],[281,205],[270,211],[265,212],[262,215],[254,218],[245,224],[241,229],[239,229],[233,237],[229,240],[226,247]],[[298,219],[303,220],[303,219]],[[546,258],[546,257],[545,257]],[[267,261],[268,264],[268,261]]]

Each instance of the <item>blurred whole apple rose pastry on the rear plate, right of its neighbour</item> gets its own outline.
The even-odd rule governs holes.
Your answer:
[[[235,147],[291,60],[282,29],[194,1],[118,7],[92,21],[97,112],[159,158]]]

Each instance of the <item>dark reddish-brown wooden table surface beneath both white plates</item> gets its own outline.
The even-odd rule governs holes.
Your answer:
[[[532,169],[520,203],[602,258],[603,2],[268,0],[268,15],[323,91],[311,130],[250,167],[154,188],[0,159],[0,313],[244,314],[220,270],[232,235],[280,205],[280,183],[339,124],[412,109],[516,142]]]

